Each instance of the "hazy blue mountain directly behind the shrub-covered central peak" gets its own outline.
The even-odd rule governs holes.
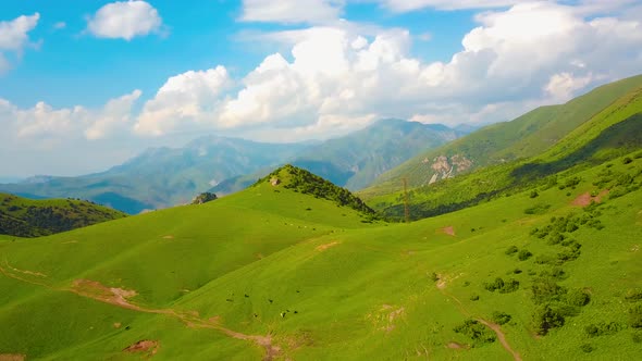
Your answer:
[[[344,137],[330,139],[303,150],[293,165],[308,170],[330,182],[355,190],[370,185],[384,172],[421,151],[433,149],[467,133],[441,124],[421,124],[403,120],[382,120]],[[232,194],[251,185],[270,171],[263,169],[221,182],[210,191]]]

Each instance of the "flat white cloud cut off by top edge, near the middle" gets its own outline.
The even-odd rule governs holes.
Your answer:
[[[271,23],[324,23],[338,18],[344,0],[244,0],[240,20]]]

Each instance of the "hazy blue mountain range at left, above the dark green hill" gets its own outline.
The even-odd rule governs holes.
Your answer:
[[[219,182],[282,163],[306,144],[261,144],[201,137],[183,148],[155,148],[106,172],[78,177],[37,176],[0,190],[28,198],[88,199],[129,214],[189,202]]]

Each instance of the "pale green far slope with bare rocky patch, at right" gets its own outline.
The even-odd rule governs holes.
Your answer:
[[[566,104],[538,108],[511,122],[490,125],[393,169],[363,195],[397,190],[403,177],[417,187],[479,167],[538,155],[641,87],[642,75],[638,75],[601,86]]]

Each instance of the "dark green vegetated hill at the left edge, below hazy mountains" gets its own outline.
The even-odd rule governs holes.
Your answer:
[[[0,235],[46,236],[123,216],[119,211],[87,201],[30,200],[0,194]]]

